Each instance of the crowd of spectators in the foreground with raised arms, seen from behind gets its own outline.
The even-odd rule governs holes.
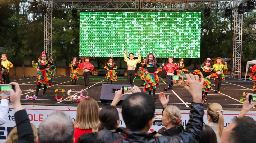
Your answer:
[[[10,90],[10,101],[15,109],[16,127],[11,131],[7,143],[254,143],[256,121],[245,116],[255,104],[249,104],[248,97],[238,116],[224,129],[223,108],[212,103],[207,109],[208,124],[203,125],[202,84],[199,76],[186,74],[190,86],[185,89],[192,95],[190,119],[184,129],[179,108],[168,106],[169,96],[159,94],[163,106],[162,125],[159,132],[148,133],[154,123],[155,100],[142,93],[137,86],[133,94],[122,103],[122,118],[126,127],[118,127],[120,117],[115,106],[121,100],[122,89],[115,92],[113,102],[99,110],[92,98],[82,100],[77,107],[75,122],[63,112],[54,112],[39,125],[30,124],[26,110],[20,103],[21,89]],[[2,99],[3,100],[3,99]],[[6,121],[8,100],[1,100],[0,123]],[[8,112],[8,111],[7,111]]]

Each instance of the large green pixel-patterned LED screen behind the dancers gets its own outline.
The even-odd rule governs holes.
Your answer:
[[[200,58],[201,12],[80,12],[79,56]]]

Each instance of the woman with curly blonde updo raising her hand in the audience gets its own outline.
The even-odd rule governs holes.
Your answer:
[[[167,129],[161,134],[165,136],[174,136],[184,132],[185,129],[182,126],[180,109],[173,105],[167,106],[169,95],[166,98],[163,92],[160,92],[159,100],[163,106],[162,124]]]

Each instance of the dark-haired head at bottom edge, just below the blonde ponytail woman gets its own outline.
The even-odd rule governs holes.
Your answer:
[[[203,132],[199,143],[217,143],[216,134],[210,126],[203,125]]]

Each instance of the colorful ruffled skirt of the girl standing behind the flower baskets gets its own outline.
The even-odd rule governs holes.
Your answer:
[[[49,87],[52,85],[50,71],[39,70],[37,73],[37,85]]]

